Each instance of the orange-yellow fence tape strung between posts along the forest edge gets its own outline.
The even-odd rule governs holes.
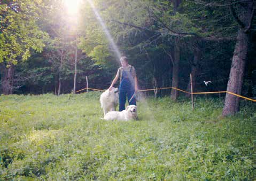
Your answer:
[[[104,91],[104,90],[100,90],[100,89],[91,89],[91,88],[85,88],[85,89],[81,89],[79,91],[76,91],[76,92],[80,92],[80,91],[83,91],[83,90],[96,90],[96,91]],[[145,90],[138,90],[138,92],[145,92],[145,91],[153,91],[153,90],[162,90],[162,89],[175,89],[175,90],[179,90],[181,92],[185,92],[185,93],[189,93],[190,95],[202,95],[202,94],[208,94],[208,93],[229,93],[230,95],[234,95],[234,96],[237,96],[237,97],[241,97],[243,99],[246,99],[246,100],[251,100],[253,102],[256,102],[255,99],[251,99],[251,98],[247,98],[247,97],[244,97],[244,96],[241,96],[241,95],[237,95],[236,93],[233,93],[233,92],[229,92],[229,91],[216,91],[216,92],[188,92],[188,91],[184,91],[184,90],[181,90],[181,89],[178,89],[178,88],[173,88],[172,86],[168,87],[168,88],[157,88],[157,89],[145,89]]]

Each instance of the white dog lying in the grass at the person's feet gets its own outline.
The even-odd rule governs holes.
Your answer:
[[[125,110],[118,112],[118,111],[111,111],[108,112],[104,116],[104,120],[121,120],[121,121],[129,121],[129,120],[136,120],[137,119],[137,106],[129,105],[126,107]]]

